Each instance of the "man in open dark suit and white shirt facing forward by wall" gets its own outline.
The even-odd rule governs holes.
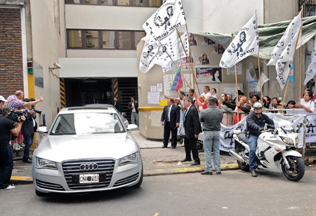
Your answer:
[[[164,125],[164,145],[162,148],[168,147],[171,131],[171,147],[176,149],[177,128],[180,123],[180,107],[173,104],[173,99],[168,99],[167,104],[168,105],[164,107],[161,119],[161,123]]]

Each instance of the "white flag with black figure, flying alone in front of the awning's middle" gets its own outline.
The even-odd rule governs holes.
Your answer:
[[[238,32],[230,46],[225,50],[220,67],[232,67],[249,55],[257,54],[259,50],[259,36],[257,18],[254,15]]]

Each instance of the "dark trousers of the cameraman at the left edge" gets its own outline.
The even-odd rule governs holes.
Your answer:
[[[11,145],[0,149],[0,189],[5,189],[10,184],[13,170],[13,151]]]

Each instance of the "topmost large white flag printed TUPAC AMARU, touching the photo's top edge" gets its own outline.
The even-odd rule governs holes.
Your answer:
[[[163,39],[176,28],[185,25],[185,13],[181,0],[167,0],[144,23],[143,29],[154,41]]]

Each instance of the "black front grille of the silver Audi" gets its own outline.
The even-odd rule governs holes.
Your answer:
[[[82,164],[98,164],[97,169],[81,170]],[[109,186],[114,169],[114,160],[112,159],[84,159],[77,161],[65,161],[62,163],[62,170],[64,171],[65,180],[68,187],[73,190],[79,189],[95,189]],[[99,182],[79,183],[74,181],[74,178],[79,179],[79,175],[83,174],[99,174]],[[78,180],[79,181],[79,180]]]

